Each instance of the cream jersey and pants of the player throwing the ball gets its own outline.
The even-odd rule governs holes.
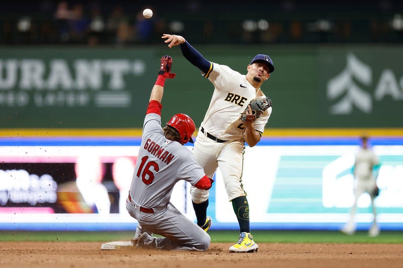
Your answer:
[[[241,113],[252,99],[265,98],[260,88],[256,90],[246,75],[232,70],[226,65],[212,63],[213,69],[205,76],[214,84],[214,93],[201,127],[205,133],[228,142],[218,143],[200,132],[194,143],[193,153],[203,166],[206,175],[213,177],[219,167],[223,175],[228,200],[246,196],[241,183],[245,127],[240,121]],[[203,74],[203,72],[202,72]],[[255,130],[263,133],[272,107],[255,121]],[[192,201],[201,203],[209,198],[209,191],[191,188]]]

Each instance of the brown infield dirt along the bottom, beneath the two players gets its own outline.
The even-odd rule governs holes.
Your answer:
[[[229,253],[230,243],[207,251],[101,250],[99,242],[1,242],[0,267],[403,267],[401,244],[259,244],[255,253]]]

